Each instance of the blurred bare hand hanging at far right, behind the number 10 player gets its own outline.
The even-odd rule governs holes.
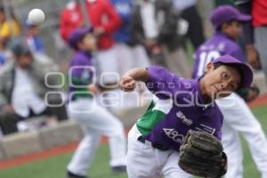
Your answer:
[[[261,62],[259,60],[259,54],[253,44],[247,45],[247,61],[254,69],[261,69]]]

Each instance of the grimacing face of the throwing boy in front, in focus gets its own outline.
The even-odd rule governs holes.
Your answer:
[[[212,62],[206,66],[206,75],[202,78],[200,87],[208,97],[222,98],[239,88],[241,77],[238,69],[221,65],[214,69]]]

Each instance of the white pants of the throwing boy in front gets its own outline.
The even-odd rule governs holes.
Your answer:
[[[137,141],[141,133],[134,125],[128,134],[126,158],[128,178],[191,178],[178,166],[179,152],[158,150],[150,142]]]

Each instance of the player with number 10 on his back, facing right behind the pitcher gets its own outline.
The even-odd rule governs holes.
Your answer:
[[[215,28],[214,36],[202,44],[195,53],[193,77],[200,77],[205,72],[206,63],[213,58],[229,54],[239,61],[244,61],[236,40],[242,33],[241,23],[251,17],[240,13],[230,5],[223,5],[214,10],[211,21]],[[242,178],[242,145],[239,133],[244,135],[249,144],[252,158],[263,178],[267,178],[267,141],[260,123],[237,93],[232,93],[217,105],[224,117],[223,147],[228,156],[226,178]]]

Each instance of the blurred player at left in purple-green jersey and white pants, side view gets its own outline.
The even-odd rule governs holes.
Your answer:
[[[77,28],[69,36],[69,45],[76,51],[69,67],[69,117],[77,120],[85,137],[68,166],[69,178],[85,178],[93,162],[101,135],[109,137],[110,166],[114,172],[125,171],[125,133],[122,123],[109,111],[93,100],[97,93],[93,83],[93,56],[96,39],[90,28]]]

